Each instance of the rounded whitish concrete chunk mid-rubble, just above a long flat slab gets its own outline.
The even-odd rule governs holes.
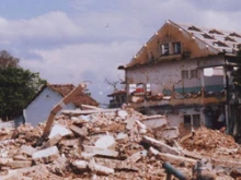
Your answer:
[[[95,147],[100,148],[115,148],[116,142],[112,135],[103,135],[95,143]]]

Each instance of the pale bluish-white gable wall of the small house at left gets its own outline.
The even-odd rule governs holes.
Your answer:
[[[25,109],[25,122],[37,125],[47,120],[54,106],[62,99],[58,93],[46,87]],[[64,109],[74,109],[73,104],[68,104]]]

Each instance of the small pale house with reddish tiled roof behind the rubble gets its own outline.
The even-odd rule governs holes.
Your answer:
[[[51,109],[65,96],[67,96],[74,86],[72,84],[47,84],[36,94],[30,104],[23,110],[23,115],[15,119],[15,127],[22,123],[31,123],[37,125],[48,119]],[[72,98],[72,103],[66,105],[65,109],[77,109],[81,105],[97,106],[99,104],[82,91]],[[60,113],[60,112],[59,112]]]

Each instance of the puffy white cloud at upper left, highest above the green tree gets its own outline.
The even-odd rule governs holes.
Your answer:
[[[4,41],[50,41],[77,38],[82,29],[64,12],[49,12],[31,20],[0,19],[0,39]]]

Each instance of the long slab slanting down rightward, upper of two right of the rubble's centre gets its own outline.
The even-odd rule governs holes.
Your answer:
[[[158,141],[158,140],[154,140],[152,137],[149,137],[149,136],[145,135],[142,137],[142,141],[145,143],[148,143],[150,145],[156,146],[162,153],[170,153],[170,154],[173,154],[173,155],[180,155],[181,154],[181,152],[177,151],[176,148],[171,147],[171,146],[167,145],[165,143],[163,143],[161,141]]]

